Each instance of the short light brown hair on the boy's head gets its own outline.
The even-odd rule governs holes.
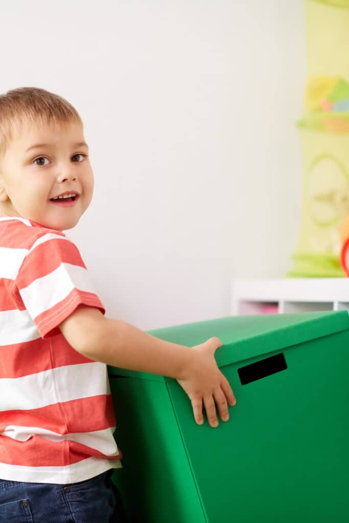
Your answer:
[[[0,157],[13,139],[14,126],[27,121],[35,125],[81,123],[74,107],[59,95],[39,87],[18,87],[0,95]]]

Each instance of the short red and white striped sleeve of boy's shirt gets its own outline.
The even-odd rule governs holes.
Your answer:
[[[58,325],[80,304],[105,314],[80,252],[65,236],[41,236],[29,249],[15,283],[42,338],[59,334]]]

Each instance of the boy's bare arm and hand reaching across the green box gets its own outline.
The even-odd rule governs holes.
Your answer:
[[[228,380],[217,367],[218,338],[195,348],[176,345],[140,331],[126,322],[106,318],[98,309],[80,305],[60,325],[67,342],[89,359],[114,367],[175,378],[192,402],[195,420],[203,423],[202,403],[212,427],[229,418],[235,398]]]

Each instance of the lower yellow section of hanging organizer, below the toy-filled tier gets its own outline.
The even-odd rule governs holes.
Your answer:
[[[349,129],[301,129],[303,203],[294,267],[289,277],[343,277],[341,224],[349,214]]]

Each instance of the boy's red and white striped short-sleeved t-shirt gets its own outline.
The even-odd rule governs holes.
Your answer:
[[[0,218],[0,479],[75,483],[121,467],[107,366],[58,328],[81,303],[105,314],[74,243]]]

